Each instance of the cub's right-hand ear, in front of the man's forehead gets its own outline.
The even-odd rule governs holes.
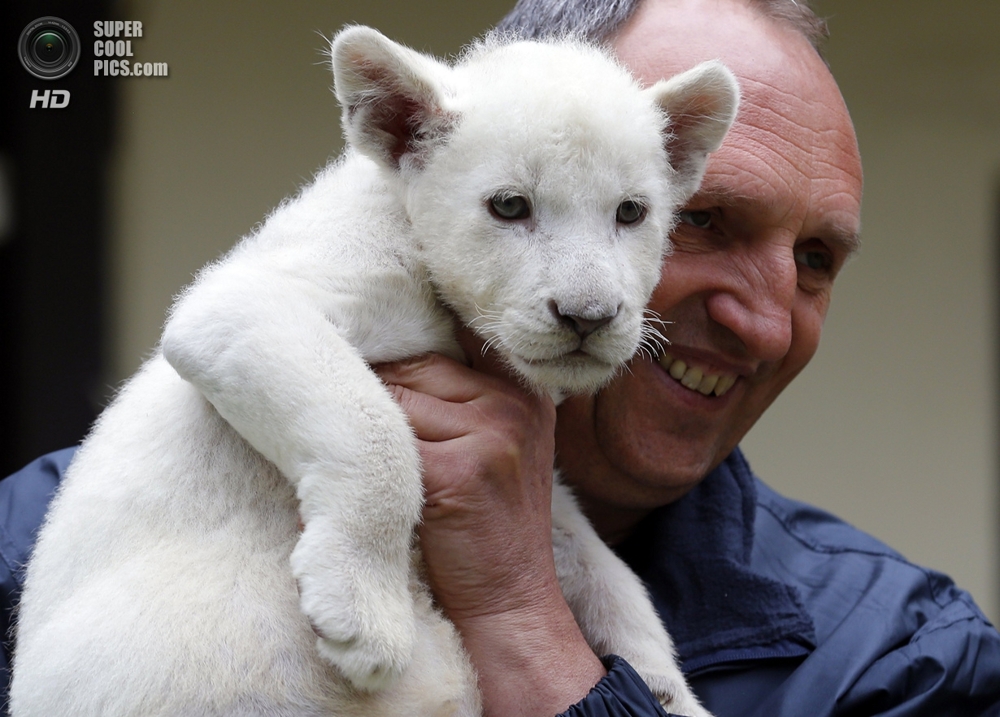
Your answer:
[[[666,147],[677,172],[676,198],[686,202],[701,184],[708,155],[719,148],[736,119],[739,85],[728,67],[711,60],[646,92],[668,117]]]

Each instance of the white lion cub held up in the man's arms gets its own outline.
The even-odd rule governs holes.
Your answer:
[[[536,388],[598,388],[649,330],[737,89],[706,63],[643,90],[575,41],[447,66],[353,27],[332,56],[348,150],[180,297],[53,503],[16,717],[480,713],[413,550],[414,438],[369,364],[461,356],[457,315]],[[561,487],[553,521],[594,650],[707,715]]]

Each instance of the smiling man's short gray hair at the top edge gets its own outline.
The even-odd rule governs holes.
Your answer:
[[[526,38],[572,34],[596,42],[608,40],[635,13],[642,0],[518,0],[498,30]],[[742,0],[765,17],[802,33],[817,52],[829,37],[826,22],[808,0]]]

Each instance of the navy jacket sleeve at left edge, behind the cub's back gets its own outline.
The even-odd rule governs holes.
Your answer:
[[[75,452],[66,448],[49,453],[0,481],[0,689],[4,702],[10,685],[13,613],[21,596],[24,565]]]

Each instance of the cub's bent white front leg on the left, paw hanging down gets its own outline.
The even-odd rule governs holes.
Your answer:
[[[378,689],[402,674],[415,641],[419,454],[359,351],[296,289],[256,265],[224,264],[175,307],[163,352],[295,487],[302,611],[320,654],[356,687]]]

